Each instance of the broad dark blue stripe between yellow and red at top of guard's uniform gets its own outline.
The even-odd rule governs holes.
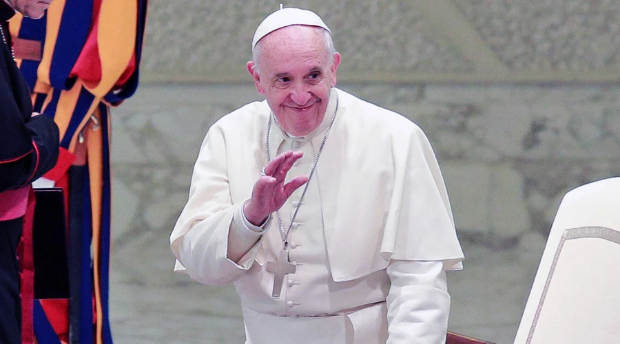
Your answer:
[[[67,0],[50,65],[52,87],[68,89],[69,74],[80,56],[92,24],[93,0]]]

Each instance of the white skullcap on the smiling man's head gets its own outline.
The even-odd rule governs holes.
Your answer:
[[[256,43],[258,43],[262,37],[290,25],[318,26],[331,33],[318,14],[300,8],[282,8],[281,10],[269,14],[269,16],[263,19],[258,25],[256,32],[254,32],[254,39],[252,39],[252,50],[254,50]]]

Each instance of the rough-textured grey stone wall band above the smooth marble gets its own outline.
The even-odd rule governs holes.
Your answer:
[[[279,2],[149,1],[143,78],[243,80],[254,30]],[[618,1],[291,0],[285,6],[320,14],[349,80],[432,80],[429,73],[447,74],[437,76],[447,81],[523,80],[525,73],[527,81],[544,72],[543,80],[617,81],[620,75]]]

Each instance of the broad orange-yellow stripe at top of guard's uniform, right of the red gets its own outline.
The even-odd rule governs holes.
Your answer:
[[[98,97],[110,92],[134,54],[138,18],[137,1],[105,0],[101,2],[97,44],[101,58],[99,85],[87,89]]]

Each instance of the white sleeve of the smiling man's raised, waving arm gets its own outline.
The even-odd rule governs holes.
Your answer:
[[[241,277],[251,268],[265,231],[244,222],[244,202],[232,204],[225,151],[222,131],[211,127],[194,166],[187,204],[170,235],[175,270],[205,284]]]

